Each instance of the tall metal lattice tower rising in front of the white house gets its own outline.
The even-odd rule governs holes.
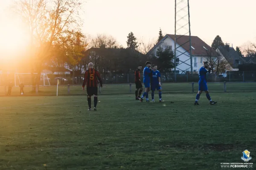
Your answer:
[[[184,37],[186,36],[187,38]],[[183,39],[182,44],[176,45],[176,41],[180,38]],[[188,45],[189,43],[189,50],[185,52],[180,51],[180,47],[183,47],[184,45]],[[189,52],[189,54],[186,54],[186,52]],[[176,65],[176,58],[186,55],[188,59],[185,61],[180,61],[179,64]],[[186,63],[190,59],[190,65]],[[174,51],[174,61],[175,61],[175,82],[176,82],[176,68],[181,70],[182,73],[186,73],[186,71],[191,70],[191,74],[193,74],[193,68],[192,68],[192,54],[191,54],[191,32],[190,32],[190,14],[189,14],[189,0],[175,0],[175,51]],[[186,70],[182,70],[179,68],[180,64],[186,64],[188,65],[188,68]],[[181,74],[182,74],[181,73]]]

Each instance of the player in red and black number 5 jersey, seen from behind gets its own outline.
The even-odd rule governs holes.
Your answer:
[[[89,109],[88,111],[91,111],[91,96],[94,95],[94,111],[96,111],[96,106],[97,106],[97,102],[98,102],[98,80],[99,79],[99,83],[100,86],[102,87],[102,79],[99,75],[99,72],[97,70],[95,70],[95,68],[93,68],[93,63],[90,62],[88,64],[89,69],[87,71],[85,71],[84,73],[84,82],[83,82],[83,91],[84,91],[84,86],[86,85],[86,91],[87,91],[87,101],[88,101],[88,105],[89,105]]]

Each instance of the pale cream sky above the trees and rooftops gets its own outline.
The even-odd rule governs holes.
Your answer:
[[[0,0],[0,14],[13,0]],[[85,0],[84,0],[85,1]],[[256,0],[189,0],[191,35],[211,44],[216,35],[233,47],[256,42]],[[82,31],[112,35],[126,46],[129,32],[145,42],[175,32],[175,0],[87,0]]]

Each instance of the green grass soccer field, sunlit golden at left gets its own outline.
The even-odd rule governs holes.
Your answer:
[[[202,94],[199,106],[190,85],[164,103],[138,102],[132,89],[100,95],[98,111],[86,96],[0,97],[0,170],[220,170],[244,150],[254,163],[256,92],[233,89],[209,88],[218,103]]]

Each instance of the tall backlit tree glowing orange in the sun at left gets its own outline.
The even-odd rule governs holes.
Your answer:
[[[38,73],[34,86],[58,37],[81,26],[80,9],[80,0],[17,0],[14,10],[27,23],[31,36],[31,73]]]

